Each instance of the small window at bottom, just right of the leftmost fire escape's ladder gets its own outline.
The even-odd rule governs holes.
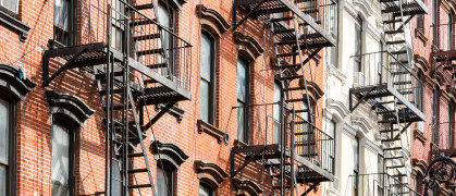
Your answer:
[[[170,167],[157,166],[157,195],[174,195],[174,173]]]

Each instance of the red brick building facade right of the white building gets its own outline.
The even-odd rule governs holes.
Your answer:
[[[423,1],[429,14],[418,17],[411,25],[415,48],[415,69],[424,88],[416,102],[427,115],[427,121],[416,123],[411,134],[410,182],[423,192],[423,175],[430,161],[445,149],[455,148],[455,86],[452,70],[445,70],[445,60],[454,57],[455,8],[454,1]],[[449,61],[451,62],[451,61]],[[448,151],[446,156],[452,156]],[[437,195],[454,195],[454,187],[443,185],[433,191]]]

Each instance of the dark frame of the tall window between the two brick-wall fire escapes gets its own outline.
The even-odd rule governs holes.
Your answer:
[[[215,125],[217,122],[217,37],[213,36],[209,30],[201,29],[201,40],[202,35],[207,36],[211,39],[211,49],[210,49],[210,56],[211,56],[211,62],[210,62],[210,82],[209,83],[209,113],[208,113],[208,121],[207,123]],[[200,63],[201,68],[201,63]],[[205,79],[200,74],[200,79]],[[205,79],[206,81],[206,79]],[[207,82],[207,81],[206,81]],[[201,88],[201,84],[199,84]],[[201,91],[199,91],[199,95],[201,95]],[[201,107],[200,107],[200,117],[201,117]]]

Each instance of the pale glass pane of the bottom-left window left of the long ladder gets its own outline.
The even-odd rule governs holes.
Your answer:
[[[69,130],[52,125],[52,195],[70,195],[70,134]]]

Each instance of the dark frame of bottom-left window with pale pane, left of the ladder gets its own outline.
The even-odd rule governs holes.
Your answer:
[[[74,195],[76,193],[76,132],[77,126],[71,121],[65,120],[64,118],[52,115],[52,125],[51,132],[53,133],[53,125],[58,124],[62,127],[69,130],[70,135],[70,146],[69,146],[69,192],[70,195]],[[52,138],[53,139],[53,135]],[[53,148],[53,146],[52,146]],[[51,157],[52,157],[52,148],[51,148]],[[51,161],[51,175],[52,175],[52,161]],[[51,189],[52,189],[52,180],[51,180]]]

